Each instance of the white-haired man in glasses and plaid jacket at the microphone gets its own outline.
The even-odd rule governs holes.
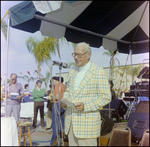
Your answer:
[[[100,108],[110,102],[110,86],[104,70],[90,61],[88,44],[77,44],[72,56],[78,69],[69,71],[63,99],[75,103],[75,108],[61,103],[66,110],[65,134],[68,134],[69,146],[97,146]]]

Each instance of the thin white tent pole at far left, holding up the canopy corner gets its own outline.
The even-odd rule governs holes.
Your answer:
[[[10,15],[8,13],[7,47],[6,47],[6,80],[5,80],[5,117],[7,116],[7,76],[8,76],[8,48],[9,48]]]

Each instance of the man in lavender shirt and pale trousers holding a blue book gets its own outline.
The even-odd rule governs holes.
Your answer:
[[[10,75],[11,82],[7,85],[7,110],[6,115],[11,117],[11,113],[13,112],[13,116],[16,121],[19,121],[20,118],[20,110],[21,110],[21,98],[23,97],[23,88],[20,83],[17,83],[17,75],[12,73]],[[11,99],[11,93],[18,93],[17,99]],[[2,93],[3,97],[5,97],[5,87]]]

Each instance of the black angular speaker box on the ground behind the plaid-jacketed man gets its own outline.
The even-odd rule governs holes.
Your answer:
[[[109,108],[109,104],[105,105],[103,108]],[[114,99],[110,102],[110,108],[116,109],[120,116],[123,117],[127,111],[127,106],[122,100]]]

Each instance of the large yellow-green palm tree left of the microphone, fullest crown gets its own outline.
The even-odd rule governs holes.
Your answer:
[[[26,46],[28,51],[33,54],[35,61],[38,64],[38,76],[37,79],[40,79],[40,67],[41,65],[51,60],[51,55],[56,54],[56,49],[59,53],[58,45],[59,40],[51,37],[44,37],[42,41],[37,40],[34,37],[29,37],[26,40]]]

